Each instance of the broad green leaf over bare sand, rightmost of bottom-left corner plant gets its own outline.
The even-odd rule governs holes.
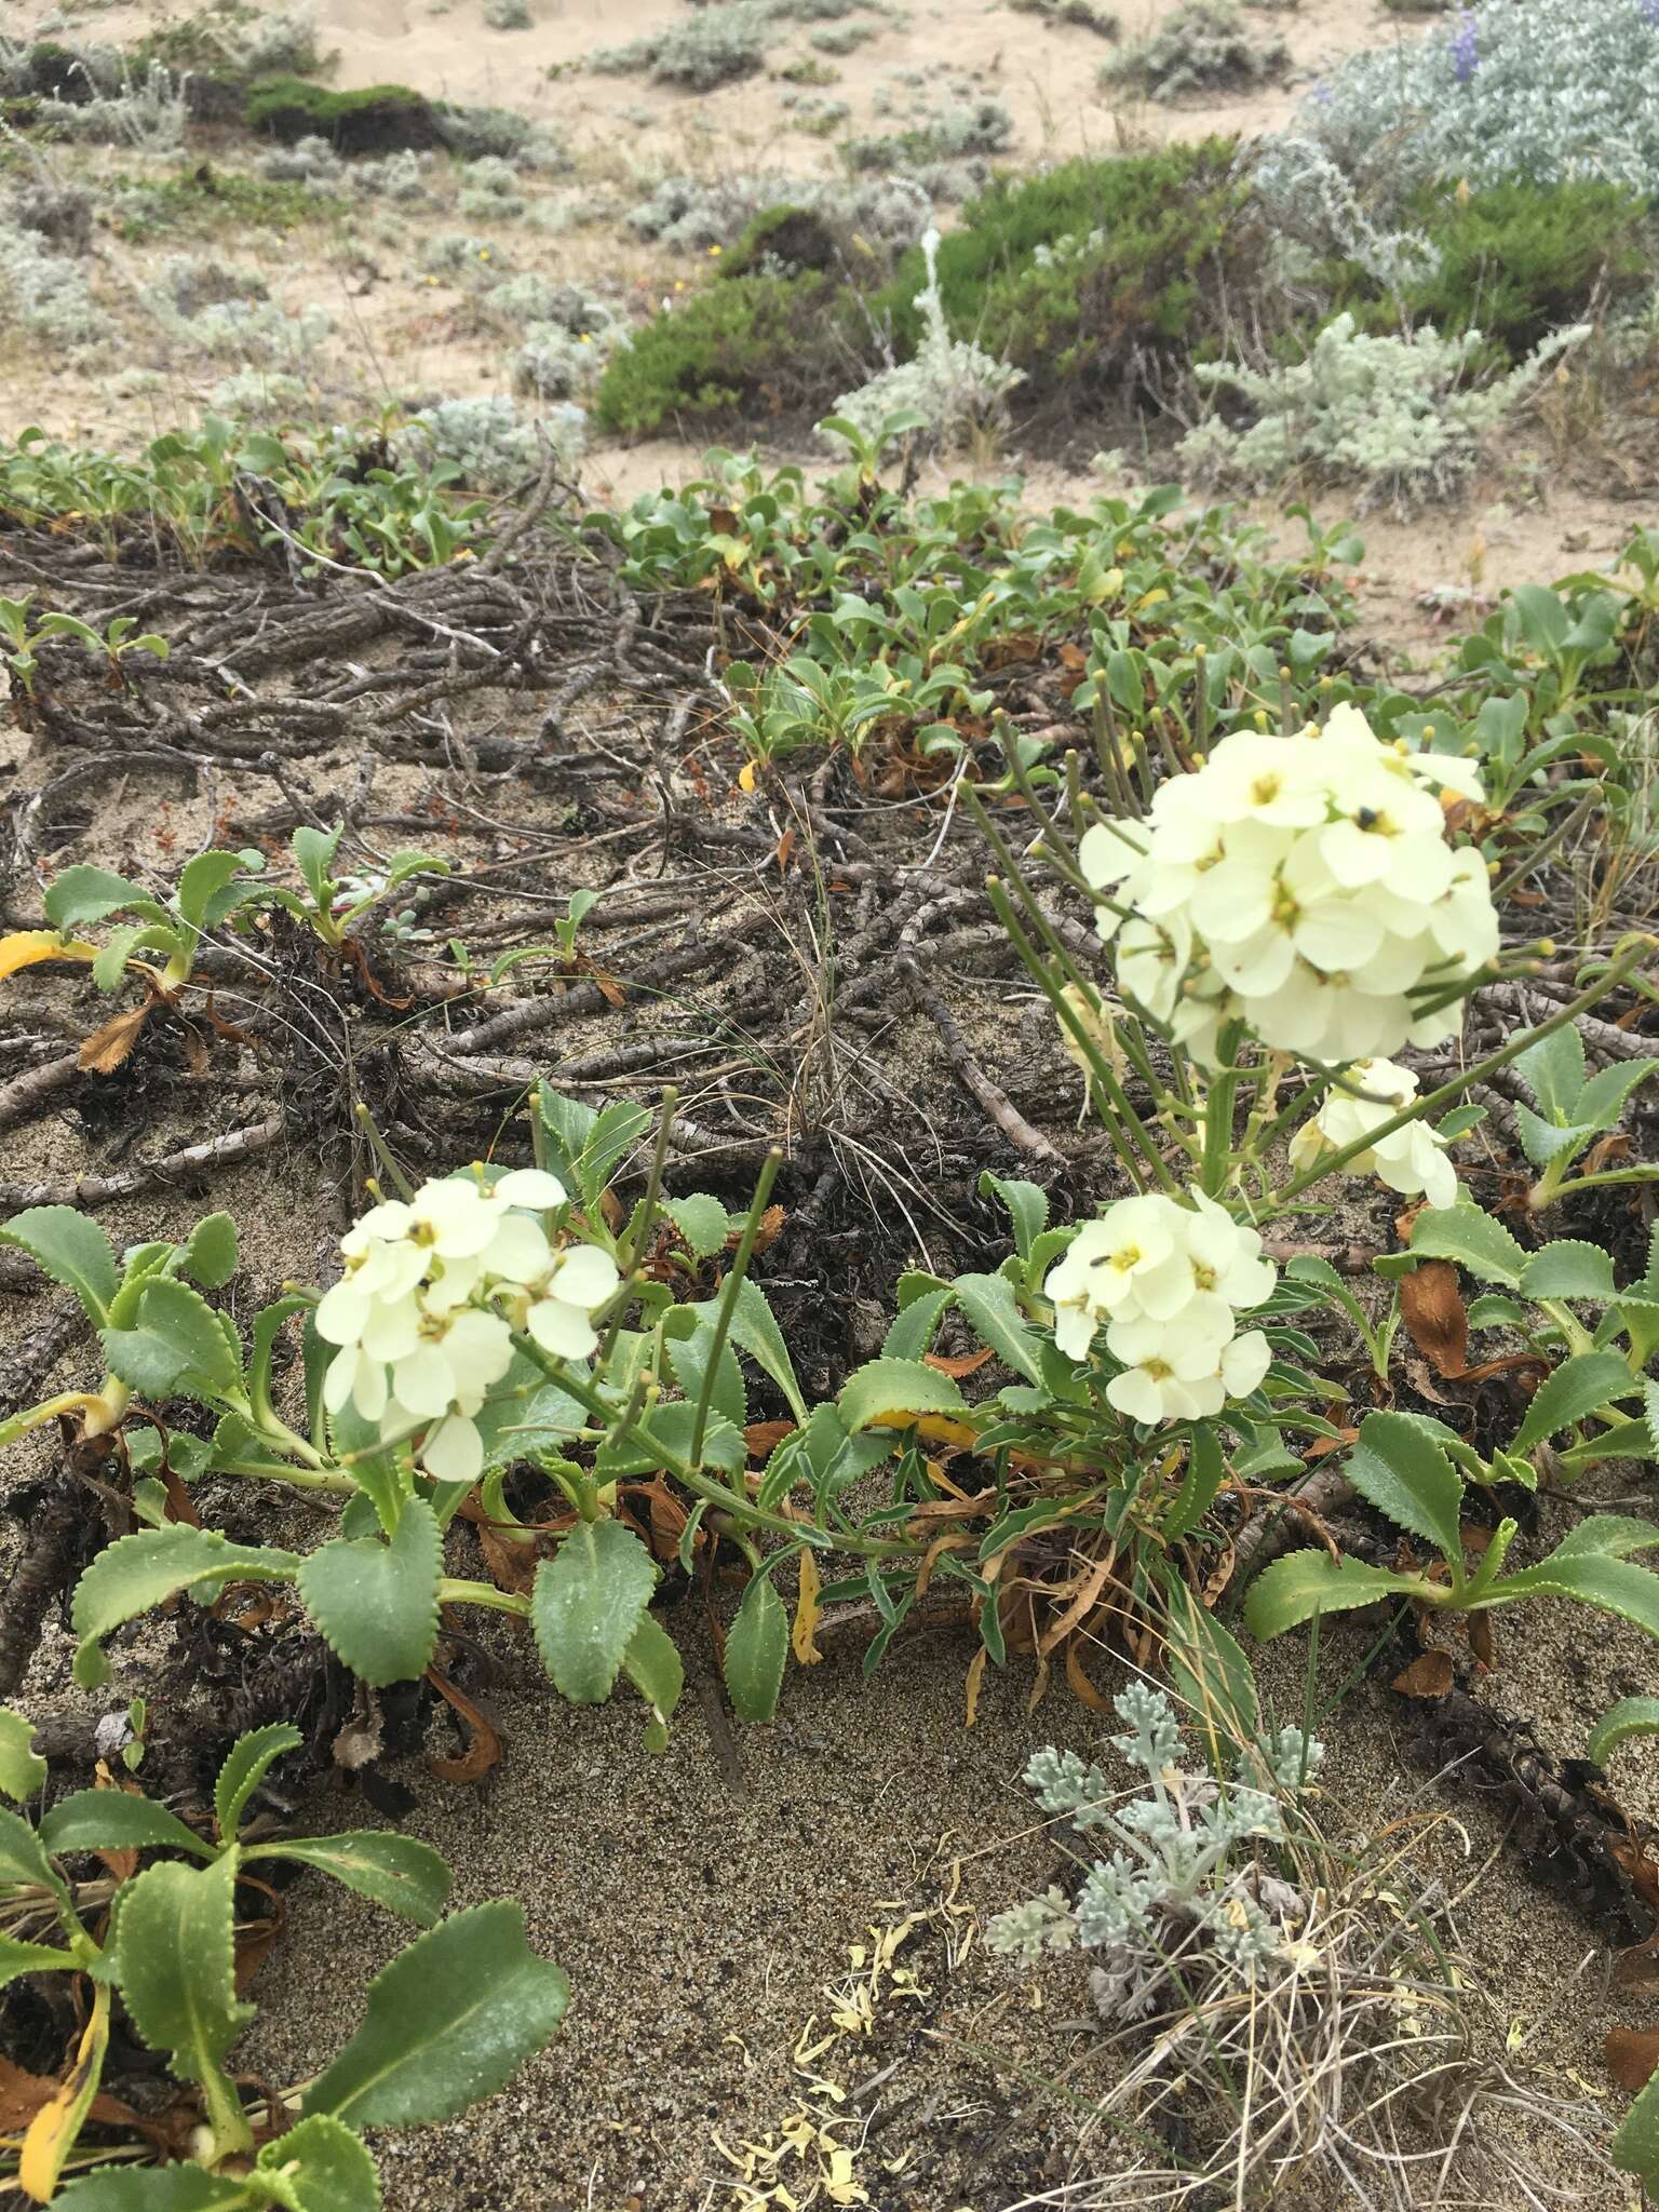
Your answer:
[[[374,1978],[363,2026],[305,2093],[305,2112],[349,2128],[451,2119],[504,2088],[568,2002],[564,1969],[524,1942],[522,1905],[451,1913]]]

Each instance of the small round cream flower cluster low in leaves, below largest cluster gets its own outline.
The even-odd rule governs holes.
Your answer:
[[[1097,1332],[1119,1363],[1106,1398],[1130,1420],[1203,1420],[1267,1374],[1267,1338],[1239,1314],[1272,1296],[1279,1270],[1261,1237],[1201,1190],[1152,1192],[1086,1221],[1048,1270],[1055,1343],[1091,1356]]]

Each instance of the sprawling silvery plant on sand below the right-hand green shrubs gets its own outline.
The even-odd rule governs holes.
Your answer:
[[[1480,456],[1489,436],[1537,376],[1590,330],[1557,330],[1533,354],[1489,385],[1460,385],[1480,332],[1442,338],[1431,323],[1409,338],[1363,336],[1352,314],[1334,316],[1305,361],[1281,369],[1243,363],[1199,363],[1199,383],[1232,385],[1256,409],[1248,429],[1219,416],[1177,447],[1183,465],[1210,482],[1272,484],[1312,465],[1352,478],[1363,502],[1387,498],[1405,511],[1444,498]]]

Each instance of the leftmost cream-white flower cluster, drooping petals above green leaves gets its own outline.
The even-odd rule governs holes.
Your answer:
[[[622,1276],[606,1252],[555,1245],[538,1214],[566,1203],[542,1168],[434,1177],[407,1201],[369,1208],[341,1239],[345,1274],[323,1292],[316,1334],[336,1345],[323,1402],[347,1402],[385,1442],[414,1440],[440,1482],[476,1482],[476,1416],[513,1360],[522,1329],[555,1358],[599,1347],[593,1314]]]

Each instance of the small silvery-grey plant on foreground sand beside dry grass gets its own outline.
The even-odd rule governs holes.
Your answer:
[[[1186,1770],[1181,1732],[1161,1690],[1130,1683],[1113,1701],[1126,1723],[1110,1743],[1146,1774],[1148,1796],[1113,1790],[1077,1752],[1035,1752],[1024,1778],[1051,1818],[1095,1834],[1110,1851],[1084,1874],[1075,1902],[1062,1889],[1015,1905],[987,1944],[1026,1964],[1048,1951],[1099,1951],[1091,1982],[1104,2020],[1155,2011],[1170,1964],[1188,1991],[1217,1975],[1250,1978],[1305,1913],[1301,1891],[1261,1867],[1248,1843],[1283,1843],[1283,1798],[1318,1772],[1318,1739],[1283,1728],[1261,1750],[1261,1781],[1221,1785]],[[1239,1860],[1239,1863],[1237,1863]]]

